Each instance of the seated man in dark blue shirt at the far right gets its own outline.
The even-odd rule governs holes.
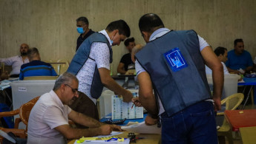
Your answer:
[[[234,49],[228,52],[226,66],[229,72],[236,74],[244,74],[252,71],[252,56],[244,50],[243,39],[234,40]]]

